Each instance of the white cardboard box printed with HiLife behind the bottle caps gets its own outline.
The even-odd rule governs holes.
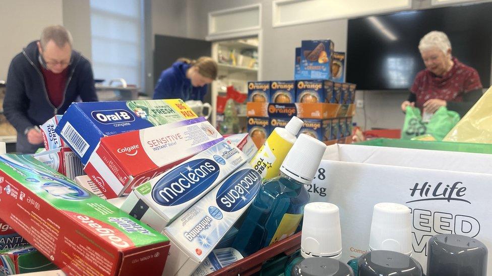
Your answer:
[[[492,249],[492,154],[336,144],[323,159],[306,189],[311,202],[340,208],[340,260],[368,249],[373,206],[379,202],[411,209],[412,256],[424,271],[426,244],[436,234],[471,236]],[[491,273],[490,254],[487,266]]]

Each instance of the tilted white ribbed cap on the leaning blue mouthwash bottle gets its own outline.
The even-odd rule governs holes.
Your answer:
[[[280,171],[289,177],[309,184],[325,154],[325,143],[306,134],[300,134],[280,166]]]

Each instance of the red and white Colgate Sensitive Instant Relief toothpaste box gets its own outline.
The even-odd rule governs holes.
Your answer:
[[[112,199],[223,139],[203,117],[107,136],[84,171]]]

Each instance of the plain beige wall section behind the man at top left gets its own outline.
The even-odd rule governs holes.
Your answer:
[[[0,80],[7,79],[12,58],[36,39],[49,25],[63,24],[61,0],[2,0],[0,1]]]

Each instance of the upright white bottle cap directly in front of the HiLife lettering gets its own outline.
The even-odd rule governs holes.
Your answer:
[[[389,250],[406,255],[412,253],[412,221],[410,209],[397,203],[374,206],[370,250]]]

